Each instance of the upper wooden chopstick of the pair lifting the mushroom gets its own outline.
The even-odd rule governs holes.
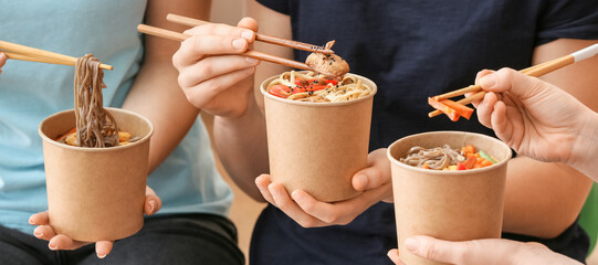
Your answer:
[[[211,22],[208,22],[208,21],[198,20],[198,19],[191,19],[191,18],[187,18],[187,17],[182,17],[182,15],[178,15],[178,14],[174,14],[174,13],[169,13],[168,15],[166,15],[166,20],[168,20],[170,22],[174,22],[174,23],[189,25],[189,26],[198,26],[198,25],[210,24],[211,23]],[[333,50],[325,49],[323,46],[318,46],[318,45],[314,45],[314,44],[310,44],[310,43],[304,43],[304,42],[298,42],[298,41],[293,41],[293,40],[281,39],[281,38],[271,36],[271,35],[264,35],[264,34],[261,34],[261,33],[258,33],[258,32],[255,32],[255,40],[266,42],[266,43],[271,43],[271,44],[281,45],[281,46],[308,51],[308,52],[317,52],[317,53],[323,53],[323,54],[333,54],[334,53]]]

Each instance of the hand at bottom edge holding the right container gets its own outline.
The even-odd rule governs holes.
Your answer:
[[[406,248],[417,256],[455,265],[581,264],[534,242],[508,240],[450,242],[419,235],[407,239],[405,244]],[[397,250],[389,251],[388,257],[395,264],[403,265]]]

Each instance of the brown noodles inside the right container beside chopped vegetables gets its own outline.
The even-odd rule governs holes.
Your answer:
[[[465,157],[459,150],[451,149],[449,145],[426,149],[423,147],[412,147],[407,151],[407,158],[400,161],[409,166],[422,168],[428,165],[430,169],[442,170],[451,165],[465,161]]]

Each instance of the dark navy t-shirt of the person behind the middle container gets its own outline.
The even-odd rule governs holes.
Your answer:
[[[493,132],[471,120],[430,119],[427,97],[472,84],[482,68],[531,65],[537,45],[559,38],[598,39],[598,1],[259,0],[291,17],[293,39],[336,40],[333,50],[350,72],[378,85],[370,150],[432,130]],[[307,53],[295,51],[304,61]],[[560,236],[536,241],[584,261],[588,239],[573,224]],[[284,247],[280,247],[284,245]],[[392,204],[378,203],[344,226],[303,229],[267,206],[252,237],[252,264],[391,264],[397,247]]]

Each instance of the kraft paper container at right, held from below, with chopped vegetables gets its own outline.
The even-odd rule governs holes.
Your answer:
[[[415,146],[473,145],[499,160],[486,168],[440,171],[399,161]],[[442,264],[415,256],[405,248],[412,235],[449,241],[500,239],[503,225],[504,187],[511,149],[499,139],[464,131],[433,131],[408,136],[388,148],[397,219],[400,258],[409,265]]]

